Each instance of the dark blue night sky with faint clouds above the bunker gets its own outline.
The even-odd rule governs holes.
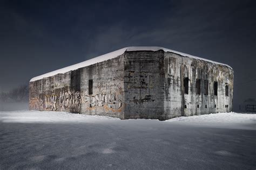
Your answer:
[[[0,0],[0,91],[126,46],[227,63],[234,107],[256,98],[255,1]]]

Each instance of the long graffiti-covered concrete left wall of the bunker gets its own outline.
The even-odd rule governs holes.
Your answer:
[[[30,82],[30,109],[124,118],[123,55]],[[89,94],[92,80],[92,94]]]

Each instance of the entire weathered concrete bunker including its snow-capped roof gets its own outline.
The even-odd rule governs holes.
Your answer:
[[[126,47],[29,83],[30,110],[170,119],[230,112],[233,69],[162,47]]]

